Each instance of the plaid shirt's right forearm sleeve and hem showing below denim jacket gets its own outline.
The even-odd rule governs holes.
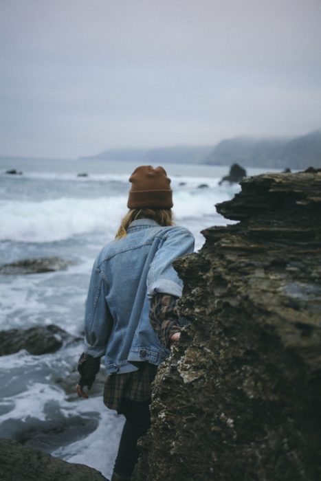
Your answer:
[[[160,341],[170,345],[170,336],[181,331],[186,321],[175,312],[177,297],[157,293],[151,300],[149,319]],[[109,409],[122,413],[122,400],[148,401],[151,399],[151,383],[157,366],[148,362],[137,362],[137,371],[124,374],[111,374],[104,383],[104,404]]]

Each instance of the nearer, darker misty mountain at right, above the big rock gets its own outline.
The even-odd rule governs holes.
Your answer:
[[[321,168],[321,131],[294,139],[229,139],[215,146],[205,164],[247,167]]]

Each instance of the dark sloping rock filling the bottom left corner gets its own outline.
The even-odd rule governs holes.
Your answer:
[[[1,481],[108,481],[96,469],[54,458],[0,438]]]

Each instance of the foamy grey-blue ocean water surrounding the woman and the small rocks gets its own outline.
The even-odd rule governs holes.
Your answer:
[[[0,159],[0,265],[47,256],[70,262],[67,269],[53,273],[0,275],[0,330],[56,324],[82,336],[93,260],[126,213],[128,178],[136,166]],[[228,223],[214,204],[231,199],[239,186],[218,185],[228,173],[225,167],[165,167],[172,179],[175,222],[195,235],[197,250],[203,244],[201,230]],[[23,175],[5,173],[12,168]],[[84,172],[88,177],[78,177]],[[199,188],[204,183],[208,187]],[[74,393],[81,352],[78,341],[53,354],[33,356],[22,350],[0,357],[0,436],[84,463],[109,477],[124,420],[104,407],[102,383],[89,400]]]

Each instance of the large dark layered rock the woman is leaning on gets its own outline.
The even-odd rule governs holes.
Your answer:
[[[321,479],[321,170],[217,205],[176,262],[192,319],[159,368],[138,481]]]

